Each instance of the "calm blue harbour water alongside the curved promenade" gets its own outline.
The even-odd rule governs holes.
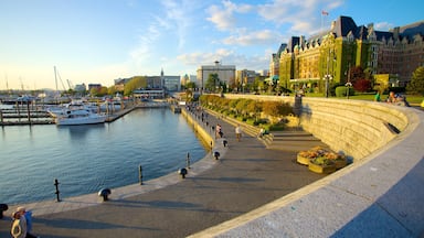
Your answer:
[[[206,151],[181,115],[139,109],[105,125],[0,128],[0,203],[95,193],[177,172]]]

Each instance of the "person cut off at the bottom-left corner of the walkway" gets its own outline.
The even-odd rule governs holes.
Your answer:
[[[36,238],[30,231],[32,229],[31,213],[26,213],[24,207],[18,207],[12,214],[13,223],[10,230],[13,238]]]

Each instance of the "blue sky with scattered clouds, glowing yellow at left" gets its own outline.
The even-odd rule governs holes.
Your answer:
[[[66,89],[67,79],[112,86],[161,68],[195,75],[214,61],[267,69],[280,43],[328,29],[340,15],[386,31],[424,20],[423,7],[412,0],[0,0],[0,89],[54,89],[54,66]]]

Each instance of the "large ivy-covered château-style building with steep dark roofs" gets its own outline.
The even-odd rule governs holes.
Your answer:
[[[305,85],[325,91],[329,84],[349,82],[350,68],[360,66],[372,75],[392,75],[396,86],[405,86],[424,65],[423,36],[424,21],[377,31],[372,23],[357,26],[352,18],[339,17],[327,31],[282,44],[272,56],[269,77],[278,75],[286,88]]]

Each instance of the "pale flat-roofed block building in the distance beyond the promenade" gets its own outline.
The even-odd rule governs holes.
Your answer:
[[[216,74],[218,78],[226,84],[233,85],[235,83],[235,65],[222,65],[215,61],[214,65],[202,65],[198,68],[198,84],[203,91],[209,75]]]

